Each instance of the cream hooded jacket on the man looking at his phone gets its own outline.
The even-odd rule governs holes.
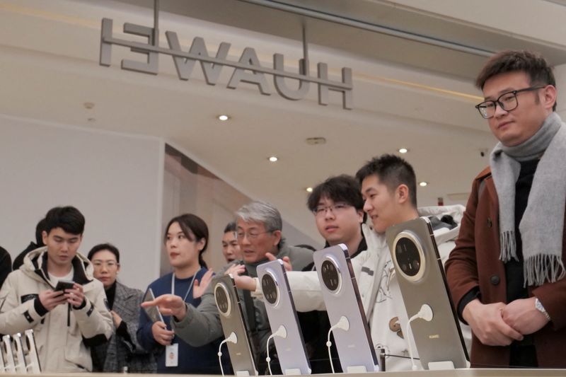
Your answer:
[[[36,302],[40,292],[53,289],[46,261],[47,247],[33,250],[6,278],[0,290],[0,333],[33,329],[42,372],[92,371],[88,346],[108,341],[114,328],[103,284],[93,278],[88,259],[77,253],[74,282],[83,286],[85,305],[75,309],[62,304],[46,312]]]

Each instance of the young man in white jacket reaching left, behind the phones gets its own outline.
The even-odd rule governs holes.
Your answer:
[[[389,226],[419,216],[434,216],[433,225],[438,224],[434,235],[444,261],[454,248],[453,240],[458,236],[464,207],[456,205],[417,210],[415,172],[409,163],[398,156],[374,158],[358,171],[356,177],[362,184],[364,211],[372,225],[362,226],[368,248],[352,259],[352,267],[369,321],[371,338],[376,348],[385,349],[387,371],[410,370],[408,342],[403,334],[408,316],[395,277],[385,231]],[[316,272],[287,272],[287,278],[297,311],[325,310]],[[255,289],[254,295],[261,296],[261,287],[257,282],[238,278],[238,284]],[[469,330],[464,329],[463,332],[469,342]],[[413,356],[418,357],[414,343],[412,349]],[[420,366],[420,363],[416,364]]]

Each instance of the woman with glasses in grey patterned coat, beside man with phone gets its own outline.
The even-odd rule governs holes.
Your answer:
[[[155,373],[154,354],[146,352],[136,337],[144,293],[117,281],[120,251],[110,243],[101,243],[88,252],[88,260],[94,266],[94,277],[104,286],[115,326],[108,343],[91,348],[93,371]]]

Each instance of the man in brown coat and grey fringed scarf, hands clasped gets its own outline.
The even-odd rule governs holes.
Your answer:
[[[473,182],[446,275],[475,367],[565,368],[566,125],[543,57],[506,51],[476,85],[499,140]]]

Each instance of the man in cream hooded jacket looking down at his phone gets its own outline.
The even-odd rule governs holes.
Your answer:
[[[88,347],[112,335],[103,284],[77,252],[84,223],[74,207],[50,209],[45,247],[26,255],[0,291],[0,333],[33,329],[43,372],[92,371]]]

